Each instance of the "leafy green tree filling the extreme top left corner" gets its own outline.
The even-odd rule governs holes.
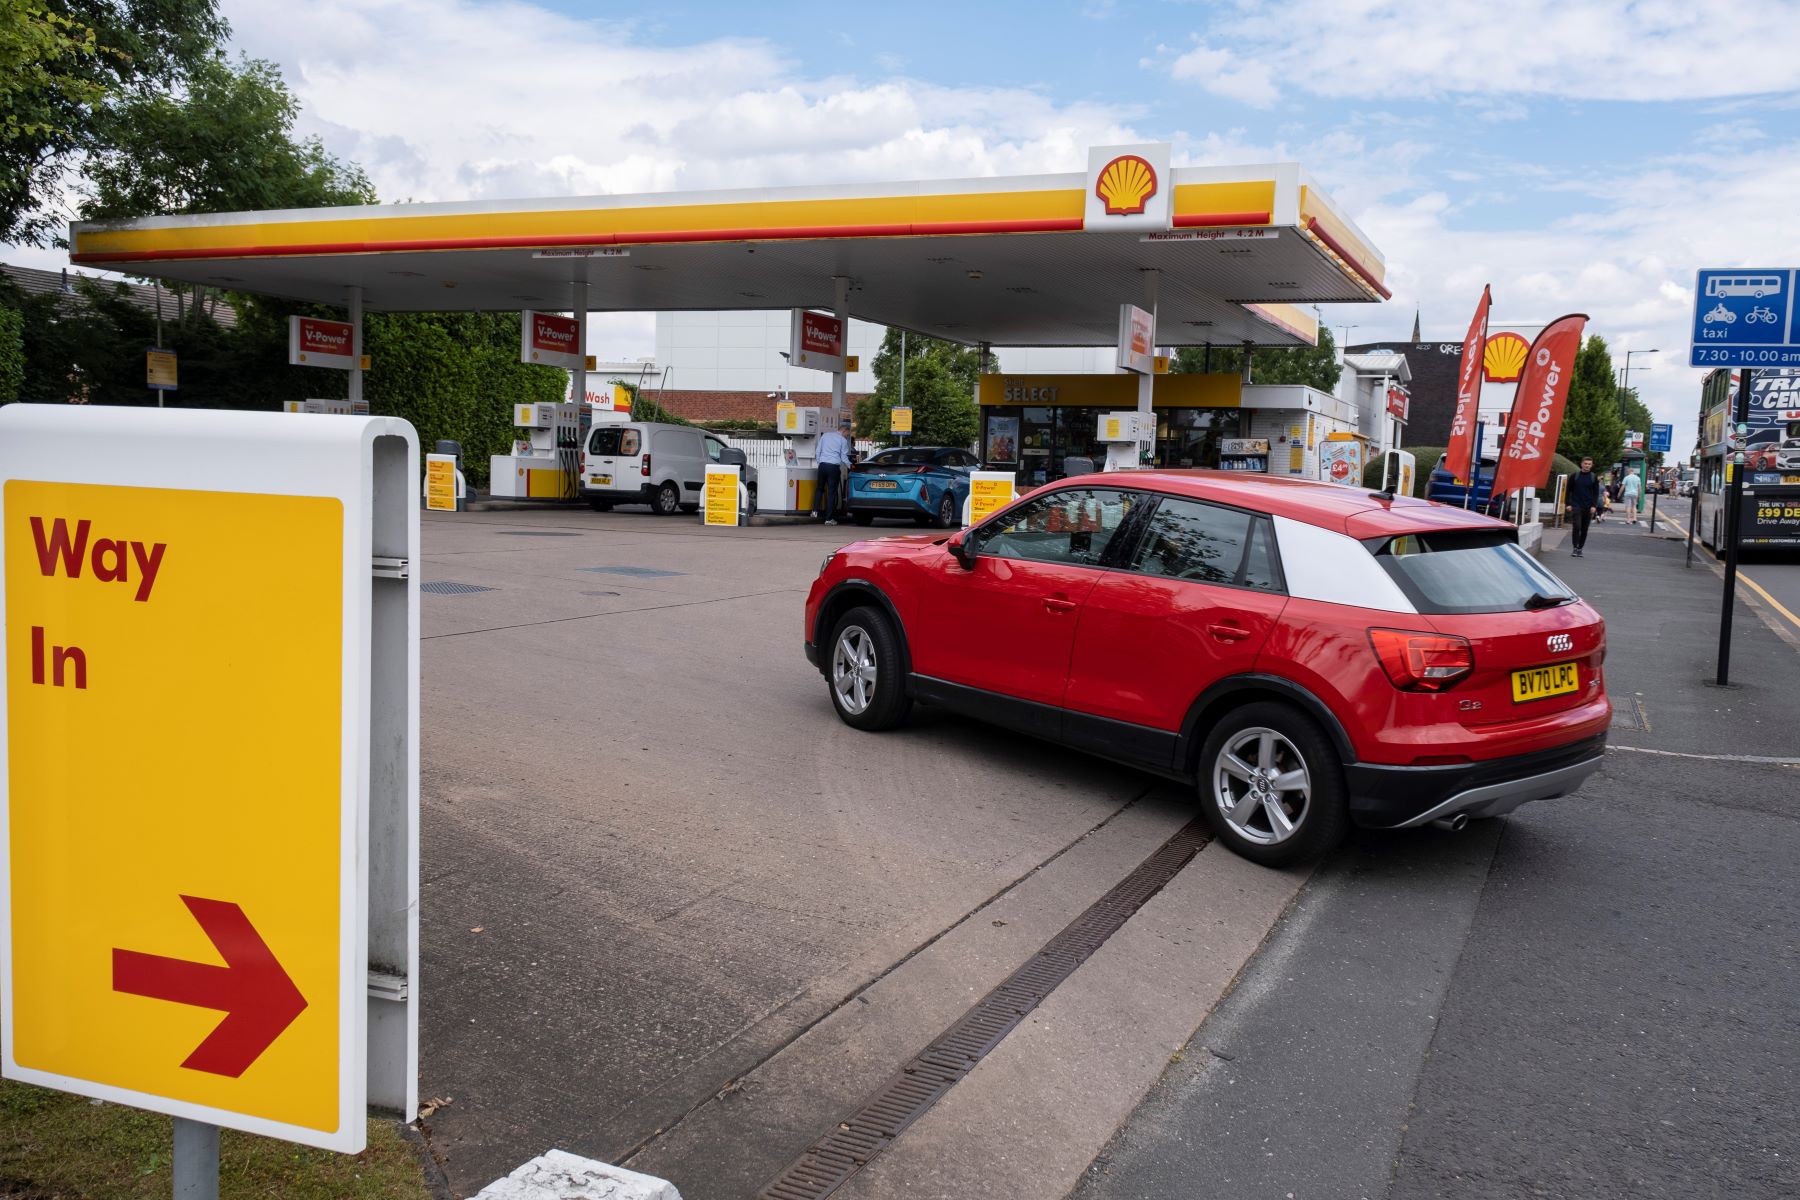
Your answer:
[[[56,241],[113,104],[176,86],[227,32],[214,0],[0,0],[0,241]]]

